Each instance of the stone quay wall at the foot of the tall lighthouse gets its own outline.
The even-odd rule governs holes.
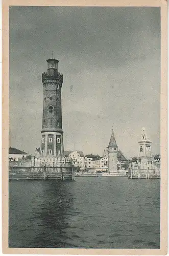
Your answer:
[[[69,158],[37,158],[9,161],[10,180],[74,180]]]

